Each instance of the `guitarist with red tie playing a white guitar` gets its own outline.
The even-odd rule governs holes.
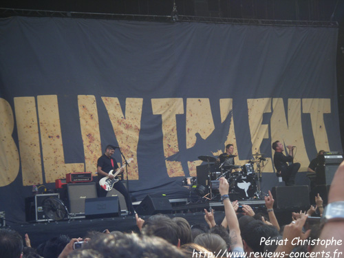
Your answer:
[[[114,158],[111,157],[115,153],[116,147],[112,145],[107,145],[105,153],[98,158],[97,162],[97,172],[98,172],[98,180],[109,176],[110,179],[114,178],[114,175],[109,175],[109,172],[111,170],[114,170],[114,172],[118,171],[120,169],[118,167],[118,164]],[[122,174],[125,171],[124,168],[121,169],[120,174]],[[118,181],[116,184],[114,184],[114,189],[116,189],[118,192],[122,193],[122,195],[125,197],[125,203],[127,204],[127,208],[129,211],[128,215],[135,215],[135,210],[133,209],[133,204],[131,203],[131,197],[125,188],[125,185],[122,184],[121,181]],[[107,191],[103,189],[100,186],[100,190],[98,193],[98,197],[106,197]]]

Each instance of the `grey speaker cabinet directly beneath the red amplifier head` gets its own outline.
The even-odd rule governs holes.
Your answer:
[[[96,198],[96,183],[67,184],[69,213],[85,213],[85,200]]]

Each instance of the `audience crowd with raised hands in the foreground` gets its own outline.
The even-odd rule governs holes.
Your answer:
[[[225,211],[221,223],[215,222],[213,211],[206,210],[204,225],[190,225],[183,217],[171,219],[162,214],[144,220],[136,214],[138,233],[105,230],[90,232],[83,239],[60,235],[35,248],[28,235],[23,240],[16,231],[2,228],[0,257],[344,257],[344,162],[328,195],[327,206],[336,212],[331,213],[331,208],[324,211],[321,196],[316,195],[316,206],[290,214],[292,223],[286,225],[277,221],[270,191],[265,197],[265,214],[255,214],[248,205],[243,206],[243,213],[237,213],[238,203],[230,201],[227,180],[219,181]],[[314,212],[325,218],[310,226],[308,217]]]

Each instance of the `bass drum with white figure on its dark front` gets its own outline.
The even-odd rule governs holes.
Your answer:
[[[255,197],[257,185],[252,175],[242,175],[233,182],[233,193],[237,193],[241,199],[246,200]]]

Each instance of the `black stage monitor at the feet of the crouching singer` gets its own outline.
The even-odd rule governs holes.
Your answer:
[[[308,186],[276,186],[271,193],[275,208],[310,207]]]

